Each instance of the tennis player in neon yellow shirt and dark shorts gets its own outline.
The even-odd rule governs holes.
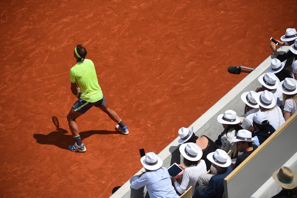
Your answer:
[[[127,135],[129,131],[116,111],[108,107],[98,84],[94,63],[90,59],[85,59],[87,55],[86,49],[82,45],[77,45],[73,54],[77,63],[70,69],[70,89],[78,100],[74,103],[67,115],[69,128],[75,140],[75,144],[70,145],[69,149],[75,152],[85,152],[87,149],[81,142],[75,119],[86,113],[92,106],[99,107],[113,121],[117,122],[118,125],[115,128],[117,131],[124,135]],[[77,85],[80,88],[80,92],[78,92]]]

